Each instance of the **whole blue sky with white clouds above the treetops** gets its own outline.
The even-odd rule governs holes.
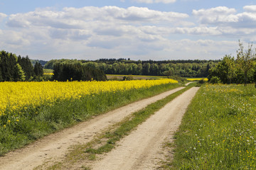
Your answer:
[[[251,0],[0,0],[0,50],[31,59],[216,60],[256,42]]]

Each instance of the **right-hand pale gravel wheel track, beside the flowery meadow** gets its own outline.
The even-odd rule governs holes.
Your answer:
[[[130,135],[119,142],[119,147],[108,153],[92,169],[156,169],[161,146],[166,137],[174,135],[181,123],[183,113],[198,91],[194,87],[168,103],[160,111],[139,125]]]

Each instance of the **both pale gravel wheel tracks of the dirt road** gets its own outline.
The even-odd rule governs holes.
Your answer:
[[[63,157],[65,157],[65,152],[68,151],[70,146],[90,142],[95,135],[102,132],[102,130],[109,128],[111,125],[123,120],[127,115],[139,111],[148,106],[150,103],[154,103],[155,101],[165,98],[166,96],[169,96],[170,94],[173,94],[181,89],[183,89],[183,87],[166,91],[163,94],[146,98],[142,101],[131,103],[122,108],[118,108],[109,113],[92,118],[85,123],[80,123],[72,128],[43,137],[43,139],[33,142],[33,144],[23,147],[22,149],[16,149],[14,152],[9,152],[5,157],[0,157],[0,169],[27,170],[34,169],[36,166],[40,166],[49,160],[50,162],[60,161],[63,159]],[[172,125],[178,126],[180,120],[176,120],[176,118],[181,118],[183,112],[185,111],[186,103],[189,103],[188,99],[191,98],[195,92],[196,89],[190,90],[189,93],[186,92],[186,94],[182,95],[183,97],[179,97],[181,99],[178,101],[176,99],[174,102],[172,102],[176,103],[176,105],[168,105],[169,107],[166,106],[168,108],[163,108],[163,111],[152,116],[149,121],[146,121],[146,123],[144,123],[138,128],[137,131],[134,132],[135,136],[134,133],[132,133],[132,135],[129,135],[128,138],[126,137],[123,140],[124,144],[122,144],[122,146],[114,149],[113,152],[102,160],[102,162],[108,163],[107,166],[103,166],[104,164],[99,162],[99,164],[95,166],[95,169],[119,169],[123,165],[125,169],[140,167],[142,165],[140,164],[141,161],[139,160],[143,159],[144,157],[146,159],[143,159],[143,162],[148,162],[149,158],[151,157],[150,154],[155,154],[156,152],[156,149],[149,149],[149,145],[151,145],[151,143],[155,145],[157,142],[153,141],[160,140],[164,135],[163,132],[166,130],[171,130]],[[182,113],[179,113],[179,111]],[[154,132],[154,134],[151,134],[149,131]],[[136,135],[137,133],[139,134]],[[143,145],[143,147],[138,148],[136,145]],[[108,161],[112,159],[111,157],[114,157],[114,154],[117,154],[115,157],[117,157],[118,162],[120,162],[119,164],[117,164],[117,162]],[[127,163],[125,163],[125,159],[127,159]]]

